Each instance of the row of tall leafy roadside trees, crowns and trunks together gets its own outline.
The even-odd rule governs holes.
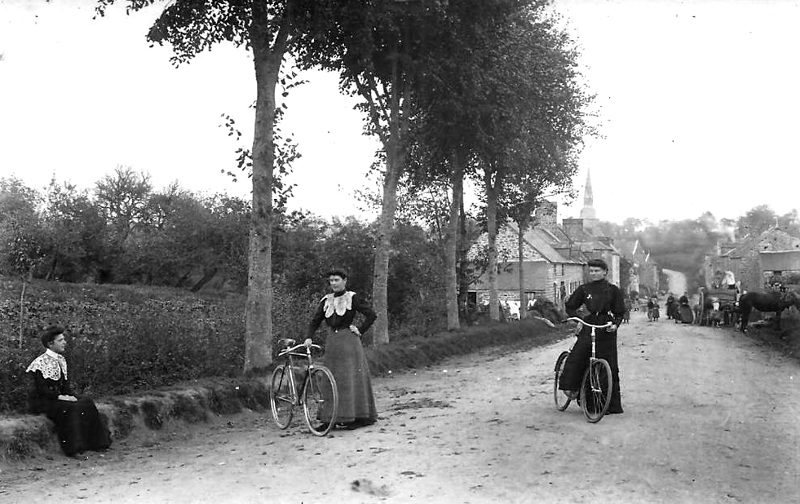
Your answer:
[[[103,14],[115,0],[99,0]],[[119,0],[132,11],[154,0]],[[340,75],[342,92],[362,99],[367,133],[383,145],[381,217],[376,228],[372,297],[377,343],[387,342],[389,267],[397,188],[447,186],[448,327],[459,324],[457,274],[463,250],[463,183],[485,198],[489,271],[504,203],[535,205],[545,191],[568,189],[575,154],[590,128],[591,102],[576,71],[577,52],[546,0],[176,0],[147,38],[169,43],[186,63],[217,43],[253,56],[257,98],[252,150],[253,201],[248,251],[245,369],[269,363],[273,306],[276,90],[298,68]],[[289,58],[291,57],[291,58]],[[495,279],[490,277],[490,283]],[[492,289],[492,317],[498,318]]]

